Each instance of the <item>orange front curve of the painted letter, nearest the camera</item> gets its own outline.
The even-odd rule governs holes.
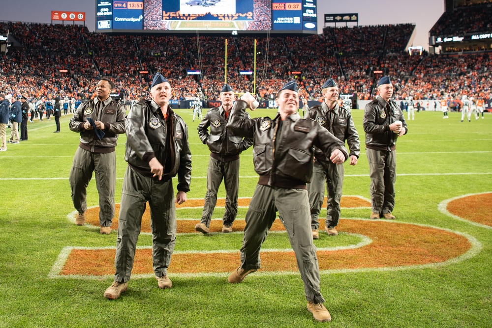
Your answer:
[[[188,229],[198,222],[178,221],[181,229]],[[214,222],[214,221],[213,221]],[[235,222],[235,230],[241,229]],[[218,221],[218,223],[221,223]],[[320,229],[324,220],[320,220]],[[452,232],[431,227],[383,220],[342,219],[338,230],[366,235],[372,243],[357,249],[318,251],[320,270],[398,267],[439,263],[455,258],[470,249],[468,240]],[[283,230],[277,219],[272,230]],[[179,244],[179,237],[177,240]],[[114,274],[114,249],[73,249],[61,275],[111,275]],[[261,253],[261,271],[297,271],[293,251]],[[169,273],[228,273],[239,265],[239,250],[233,253],[173,254]],[[153,273],[152,249],[137,249],[133,274]]]

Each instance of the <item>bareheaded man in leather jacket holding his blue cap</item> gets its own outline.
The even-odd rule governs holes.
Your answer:
[[[118,134],[124,133],[125,115],[123,106],[109,96],[113,88],[113,82],[101,79],[96,85],[96,97],[79,106],[69,123],[70,130],[80,132],[80,144],[70,170],[72,201],[78,211],[75,223],[84,225],[86,221],[86,190],[95,172],[100,233],[106,235],[111,233],[115,216],[115,147]],[[93,125],[88,120],[92,120]]]

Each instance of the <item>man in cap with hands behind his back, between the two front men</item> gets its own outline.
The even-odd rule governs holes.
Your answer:
[[[207,194],[202,219],[195,230],[210,232],[210,220],[217,204],[217,191],[222,179],[225,187],[225,213],[222,232],[232,232],[232,222],[238,215],[239,154],[253,144],[251,138],[236,137],[227,131],[229,113],[234,103],[234,90],[225,84],[220,91],[222,105],[209,109],[198,125],[198,136],[210,149],[207,170]],[[208,129],[210,127],[210,134]]]

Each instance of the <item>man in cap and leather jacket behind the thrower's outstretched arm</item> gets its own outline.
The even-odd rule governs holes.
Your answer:
[[[326,81],[321,89],[324,98],[323,103],[311,107],[306,117],[321,124],[343,143],[347,140],[350,149],[350,165],[356,165],[361,153],[361,143],[352,115],[347,109],[338,106],[338,86],[333,79]],[[343,164],[332,163],[317,148],[314,148],[314,157],[314,179],[307,185],[311,209],[312,238],[319,238],[318,216],[325,198],[325,182],[328,191],[325,231],[329,235],[337,236],[338,231],[335,227],[338,225],[338,219],[340,219],[340,200],[345,169]]]

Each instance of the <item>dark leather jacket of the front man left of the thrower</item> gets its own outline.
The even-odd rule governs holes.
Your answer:
[[[133,105],[126,116],[125,161],[140,174],[152,177],[149,162],[155,157],[164,166],[162,180],[178,175],[178,191],[188,192],[191,180],[188,126],[170,106],[167,120],[159,112],[154,101],[140,100]]]

